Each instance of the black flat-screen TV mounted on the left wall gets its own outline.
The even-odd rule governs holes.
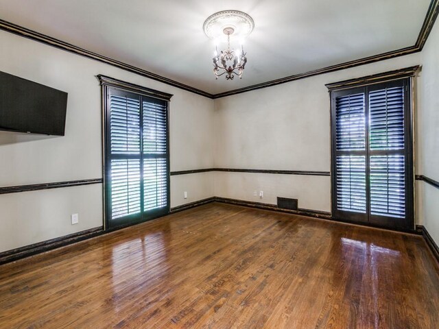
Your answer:
[[[0,130],[64,136],[67,93],[0,72]]]

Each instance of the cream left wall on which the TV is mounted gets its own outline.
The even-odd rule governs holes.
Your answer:
[[[8,32],[0,45],[0,71],[69,93],[65,136],[0,133],[0,186],[102,178],[98,74],[174,94],[171,171],[213,167],[212,99]],[[171,176],[171,207],[212,196],[213,173]],[[0,195],[0,210],[2,252],[102,226],[102,184]]]

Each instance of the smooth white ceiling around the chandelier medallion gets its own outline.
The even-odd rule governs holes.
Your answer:
[[[14,0],[0,19],[207,93],[413,46],[430,0]],[[215,80],[204,20],[220,10],[254,19],[241,80]]]

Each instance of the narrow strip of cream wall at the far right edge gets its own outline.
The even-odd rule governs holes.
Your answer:
[[[419,117],[420,172],[439,181],[439,23],[434,25],[422,52],[422,90]],[[423,224],[439,245],[439,190],[423,182]]]

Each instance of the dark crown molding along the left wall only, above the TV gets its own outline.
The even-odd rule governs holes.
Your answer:
[[[32,31],[32,29],[27,29],[26,27],[16,25],[14,23],[10,23],[8,21],[4,21],[3,19],[0,19],[0,29],[3,29],[5,31],[11,32],[13,34],[18,34],[19,36],[23,36],[25,38],[32,39],[34,41],[42,42],[45,45],[50,45],[52,47],[56,47],[65,51],[69,51],[71,53],[75,53],[80,56],[84,56],[86,58],[90,58],[92,60],[97,60],[99,62],[103,62],[112,66],[116,66],[119,69],[123,69],[125,71],[129,71],[132,73],[136,73],[138,75],[141,75],[143,77],[147,77],[152,80],[156,80],[158,82],[163,82],[164,84],[168,84],[169,86],[174,86],[176,88],[180,88],[183,90],[190,91],[191,93],[195,93],[204,97],[212,98],[212,95],[210,93],[206,93],[203,90],[200,90],[198,88],[193,88],[191,86],[187,86],[186,84],[182,84],[181,82],[177,82],[175,80],[168,79],[167,77],[162,77],[161,75],[140,69],[139,67],[132,66],[130,64],[126,64],[123,62],[119,62],[119,60],[113,60],[112,58],[108,58],[106,56],[99,55],[99,53],[93,53],[93,51],[88,51],[86,49],[76,47],[74,45],[71,45],[68,42],[64,42],[61,40],[58,40],[56,38],[52,38],[51,36],[47,36],[45,34],[41,34],[35,31]]]

